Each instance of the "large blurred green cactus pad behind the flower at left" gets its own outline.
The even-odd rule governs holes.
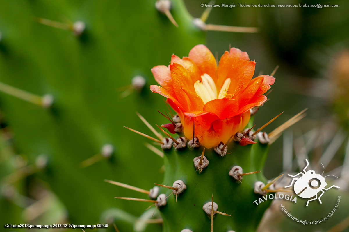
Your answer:
[[[192,25],[181,0],[172,1],[171,10],[178,28],[155,8],[153,0],[135,4],[23,0],[1,1],[0,5],[0,82],[53,97],[52,106],[44,109],[0,93],[2,120],[12,131],[15,153],[29,163],[40,154],[48,157],[47,167],[33,178],[43,179],[64,203],[69,222],[97,224],[113,208],[138,217],[147,203],[114,197],[143,195],[103,180],[150,189],[163,179],[163,160],[122,126],[147,129],[136,111],[153,124],[163,120],[156,112],[166,109],[163,99],[148,88],[155,84],[150,69],[168,62],[172,53],[186,55],[194,45],[205,42],[205,34]],[[38,18],[68,25],[81,21],[86,29],[76,36],[70,30],[40,24]],[[122,98],[123,88],[136,75],[145,78],[145,87]],[[110,159],[81,168],[80,163],[99,154],[104,144],[114,148]],[[0,165],[0,177],[9,175],[10,170],[2,168],[5,162]],[[27,181],[15,183],[22,194],[25,185]],[[2,209],[12,209],[12,204],[1,199]],[[1,215],[1,224],[23,223],[18,210],[14,210],[17,214],[10,211]],[[116,224],[120,231],[132,231],[132,224],[117,218]],[[157,224],[150,228],[161,231]]]

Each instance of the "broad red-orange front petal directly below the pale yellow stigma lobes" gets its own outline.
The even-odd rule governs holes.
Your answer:
[[[203,110],[216,114],[220,119],[231,118],[237,115],[239,103],[235,99],[221,98],[209,101],[203,106]]]

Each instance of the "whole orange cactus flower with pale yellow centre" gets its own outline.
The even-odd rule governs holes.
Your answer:
[[[225,51],[217,66],[205,45],[196,45],[188,57],[172,55],[169,66],[151,69],[160,86],[150,90],[167,98],[181,119],[184,135],[206,148],[217,146],[245,128],[250,109],[267,100],[274,77],[253,78],[255,62],[237,48]]]

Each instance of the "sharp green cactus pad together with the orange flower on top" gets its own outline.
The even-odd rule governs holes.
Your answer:
[[[270,204],[253,203],[260,197],[254,193],[255,183],[266,183],[257,171],[263,170],[268,143],[258,142],[258,136],[250,136],[251,130],[245,134],[243,130],[252,121],[250,110],[267,100],[263,94],[275,78],[252,79],[254,68],[255,62],[237,48],[225,51],[217,66],[210,50],[196,45],[188,57],[172,55],[169,66],[151,69],[160,85],[151,85],[151,91],[167,98],[183,127],[177,132],[170,125],[163,126],[178,134],[172,138],[177,143],[162,146],[163,185],[180,180],[186,186],[173,196],[169,196],[175,192],[173,187],[161,187],[160,193],[169,196],[166,205],[159,207],[164,231],[256,231]],[[255,174],[237,181],[229,175],[236,165]]]

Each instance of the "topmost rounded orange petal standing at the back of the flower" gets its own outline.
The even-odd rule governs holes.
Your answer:
[[[202,74],[207,73],[216,80],[216,59],[205,45],[199,44],[193,47],[189,52],[189,58],[199,67]]]

